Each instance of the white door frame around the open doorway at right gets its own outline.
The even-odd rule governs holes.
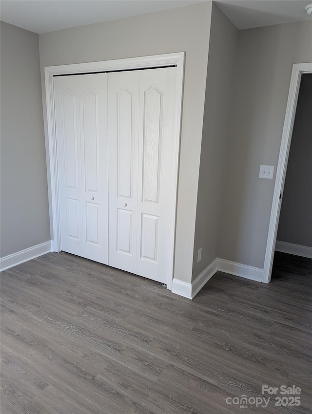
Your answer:
[[[292,66],[292,77],[288,94],[288,101],[286,107],[286,115],[284,121],[284,128],[282,134],[281,147],[279,151],[279,158],[276,170],[275,186],[273,193],[273,202],[271,208],[271,218],[269,225],[269,233],[267,240],[267,248],[264,258],[263,266],[263,280],[264,283],[271,281],[274,250],[277,237],[277,228],[279,221],[279,214],[282,204],[282,196],[285,184],[286,170],[288,164],[289,150],[292,141],[293,123],[296,114],[298,94],[300,88],[300,81],[302,74],[312,73],[312,63],[295,63]]]

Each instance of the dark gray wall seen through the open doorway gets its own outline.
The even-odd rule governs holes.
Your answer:
[[[312,247],[312,75],[302,75],[277,240]]]

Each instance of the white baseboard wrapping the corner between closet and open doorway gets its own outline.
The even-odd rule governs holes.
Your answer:
[[[263,269],[216,258],[192,283],[174,279],[172,281],[172,292],[187,299],[194,299],[200,289],[218,270],[256,282],[262,282],[263,278]]]

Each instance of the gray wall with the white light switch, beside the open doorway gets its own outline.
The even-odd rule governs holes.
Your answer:
[[[293,63],[312,62],[312,21],[241,30],[230,120],[219,257],[263,268],[273,180]]]

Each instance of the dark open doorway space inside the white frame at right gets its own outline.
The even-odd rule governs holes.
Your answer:
[[[301,76],[272,279],[312,271],[312,74]]]

